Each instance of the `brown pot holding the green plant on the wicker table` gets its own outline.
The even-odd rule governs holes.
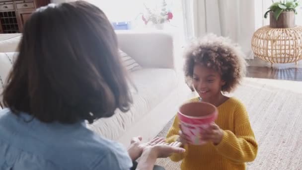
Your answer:
[[[278,20],[274,16],[274,12],[270,12],[270,27],[271,28],[292,28],[295,27],[295,12],[284,11],[279,15]]]

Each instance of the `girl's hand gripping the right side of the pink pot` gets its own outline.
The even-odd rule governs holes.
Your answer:
[[[212,123],[209,128],[201,134],[202,140],[212,141],[214,145],[218,145],[224,136],[224,131],[215,123]]]

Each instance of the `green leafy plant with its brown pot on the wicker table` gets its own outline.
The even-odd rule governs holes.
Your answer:
[[[270,14],[270,27],[272,28],[291,28],[295,26],[296,8],[299,6],[298,0],[280,0],[274,2],[265,12],[264,18]]]

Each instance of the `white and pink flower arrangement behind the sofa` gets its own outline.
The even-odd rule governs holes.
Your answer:
[[[162,1],[161,11],[158,11],[156,9],[151,10],[145,5],[147,13],[142,15],[142,19],[145,24],[147,25],[149,22],[152,22],[153,24],[162,24],[165,22],[170,22],[170,20],[173,18],[173,13],[168,11],[166,9],[166,6],[167,3],[165,0]]]

